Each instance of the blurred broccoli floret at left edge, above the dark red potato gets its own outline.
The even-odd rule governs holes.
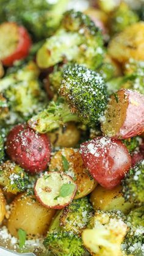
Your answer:
[[[38,74],[34,62],[29,62],[21,70],[0,80],[0,91],[7,98],[10,111],[29,117],[41,108],[45,93],[40,88]]]

